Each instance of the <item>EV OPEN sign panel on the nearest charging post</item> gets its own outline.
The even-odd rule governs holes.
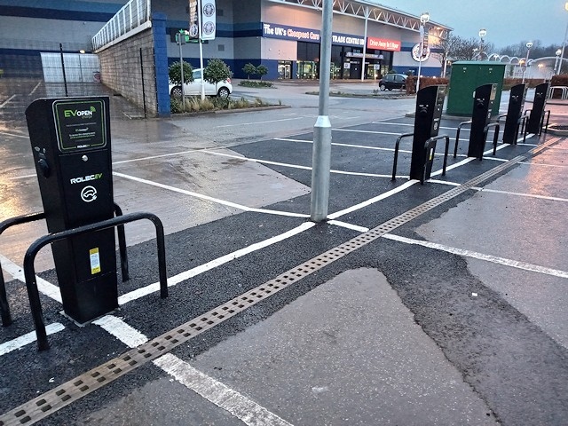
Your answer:
[[[102,100],[56,100],[53,117],[61,153],[106,146]]]

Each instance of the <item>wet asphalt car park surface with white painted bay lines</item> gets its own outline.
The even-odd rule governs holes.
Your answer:
[[[60,88],[31,93],[36,83],[0,99],[3,220],[42,209],[21,114]],[[488,143],[479,162],[465,156],[465,131],[445,177],[438,144],[425,185],[408,179],[406,140],[391,181],[414,99],[332,98],[329,220],[316,225],[317,98],[290,83],[235,91],[292,107],[130,120],[139,111],[112,99],[114,198],[162,218],[168,298],[155,284],[151,225],[127,225],[120,308],[86,327],[61,315],[46,250],[37,271],[51,349],[38,352],[20,268],[46,231],[36,223],[0,236],[14,319],[0,331],[4,424],[28,415],[39,424],[568,422],[566,138],[500,143],[494,157]],[[550,108],[552,122],[566,122],[566,106]],[[456,127],[442,121],[452,148]]]

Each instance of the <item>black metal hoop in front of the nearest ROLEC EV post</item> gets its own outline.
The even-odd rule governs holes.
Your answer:
[[[160,273],[160,296],[164,298],[168,296],[168,279],[166,276],[166,250],[164,245],[163,225],[162,221],[152,213],[130,213],[121,217],[103,220],[96,224],[79,226],[60,233],[51,233],[50,235],[46,235],[34,241],[32,245],[29,246],[26,256],[24,256],[24,277],[26,280],[26,287],[28,288],[29,304],[34,318],[34,325],[36,327],[37,347],[39,351],[49,349],[47,333],[43,322],[42,305],[39,298],[39,290],[37,289],[36,271],[34,269],[34,261],[36,260],[36,255],[39,250],[47,244],[51,244],[55,241],[65,240],[69,237],[75,237],[84,233],[101,231],[103,229],[127,224],[140,219],[150,220],[156,228],[158,269]]]

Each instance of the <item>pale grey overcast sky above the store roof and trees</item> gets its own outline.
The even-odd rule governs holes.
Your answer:
[[[505,47],[523,40],[562,46],[568,11],[565,0],[374,0],[406,13],[430,12],[430,20],[454,28],[454,35],[478,37]]]

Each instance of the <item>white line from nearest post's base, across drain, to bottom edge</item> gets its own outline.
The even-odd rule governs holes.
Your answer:
[[[106,315],[97,319],[93,321],[93,324],[102,327],[130,348],[137,348],[148,341],[146,335],[113,315]],[[159,359],[154,359],[153,363],[154,366],[162,368],[187,389],[193,390],[202,398],[233,414],[241,422],[255,426],[291,426],[290,423],[282,420],[276,414],[272,414],[256,402],[229,388],[225,383],[205,375],[171,353],[166,353]]]

